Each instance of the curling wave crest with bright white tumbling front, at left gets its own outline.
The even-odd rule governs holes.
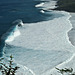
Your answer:
[[[2,37],[1,39],[7,42],[12,42],[15,37],[20,35],[19,26],[23,26],[23,22],[21,20],[16,20],[13,23],[16,23],[17,25],[12,26]]]

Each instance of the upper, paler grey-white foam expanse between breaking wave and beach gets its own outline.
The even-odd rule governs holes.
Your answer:
[[[68,20],[70,15],[63,11],[53,11],[53,13],[55,17],[61,14],[62,16],[50,21],[25,24],[20,29],[21,36],[8,44],[36,50],[69,50],[72,48],[73,51],[73,46],[67,36],[67,32],[71,29]],[[29,27],[26,28],[26,25]]]

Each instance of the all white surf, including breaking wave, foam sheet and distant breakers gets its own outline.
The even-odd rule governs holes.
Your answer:
[[[2,36],[5,62],[12,54],[20,67],[16,75],[60,75],[55,67],[75,71],[75,46],[69,38],[73,28],[69,20],[71,15],[65,11],[48,10],[55,8],[55,4],[56,1],[48,1],[35,5],[36,8],[43,7],[41,13],[52,14],[50,20],[36,23],[17,20],[18,24]]]

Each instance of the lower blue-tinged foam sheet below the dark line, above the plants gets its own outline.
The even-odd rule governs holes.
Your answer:
[[[20,71],[28,73],[27,75],[47,75],[46,72],[56,65],[66,61],[72,56],[69,51],[59,50],[28,50],[25,48],[6,48],[5,56],[9,56],[11,53],[14,55],[15,63],[22,65]],[[24,67],[25,66],[25,67]],[[50,75],[50,74],[48,74]]]

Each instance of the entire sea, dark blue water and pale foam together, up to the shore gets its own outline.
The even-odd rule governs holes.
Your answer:
[[[6,63],[13,55],[20,67],[16,75],[59,75],[55,67],[75,69],[71,15],[49,10],[55,4],[56,0],[1,1],[0,56]]]

